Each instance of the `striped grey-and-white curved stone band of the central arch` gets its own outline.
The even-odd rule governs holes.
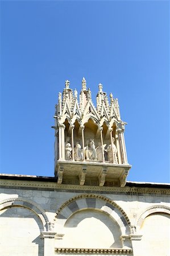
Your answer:
[[[76,201],[82,200],[82,199],[84,199],[84,202],[83,202],[82,208],[80,208],[78,207],[78,204],[76,203]],[[89,202],[89,205],[88,205],[86,203],[87,199],[94,199],[94,200],[92,200],[92,202]],[[103,204],[104,209],[102,208],[100,209],[96,207],[97,199],[105,202],[105,204]],[[115,221],[117,221],[119,227],[121,228],[122,234],[130,232],[131,222],[127,214],[125,213],[125,211],[121,207],[119,207],[119,205],[116,204],[113,200],[110,200],[105,196],[101,196],[101,195],[99,196],[95,194],[82,194],[82,195],[74,196],[68,201],[65,201],[65,203],[61,205],[61,207],[57,210],[54,221],[56,221],[57,218],[60,218],[60,215],[62,216],[62,218],[64,217],[62,210],[65,207],[68,207],[69,209],[71,209],[72,213],[77,212],[77,210],[87,209],[87,207],[89,209],[94,208],[94,209],[102,210],[103,212],[106,212],[107,214],[109,214],[110,217],[113,217]],[[67,220],[68,217],[69,216],[65,217],[65,221]]]

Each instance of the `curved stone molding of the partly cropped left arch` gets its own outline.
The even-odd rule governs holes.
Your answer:
[[[9,198],[0,202],[0,210],[8,207],[24,207],[32,210],[37,216],[39,216],[40,220],[43,223],[44,230],[49,230],[49,220],[44,210],[39,207],[38,204],[32,202],[31,200],[24,199],[22,197]]]

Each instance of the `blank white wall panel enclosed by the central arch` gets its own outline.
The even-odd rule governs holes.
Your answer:
[[[99,210],[84,209],[74,213],[65,223],[64,233],[66,247],[122,247],[121,229],[113,218]]]

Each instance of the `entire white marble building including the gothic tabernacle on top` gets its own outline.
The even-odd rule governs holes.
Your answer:
[[[169,256],[169,184],[127,181],[118,100],[65,81],[55,125],[55,176],[0,176],[2,256]]]

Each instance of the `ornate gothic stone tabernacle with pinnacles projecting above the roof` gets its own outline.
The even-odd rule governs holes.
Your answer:
[[[78,92],[65,81],[55,113],[55,175],[58,183],[125,186],[127,162],[124,131],[118,99],[110,102],[98,85],[97,107],[82,79]]]

